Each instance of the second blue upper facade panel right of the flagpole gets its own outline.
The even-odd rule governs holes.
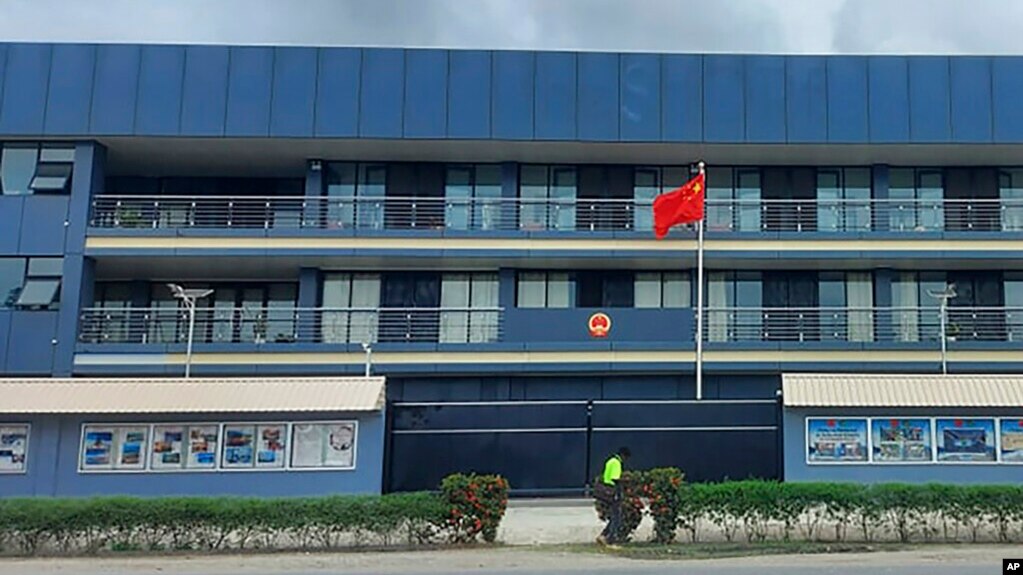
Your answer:
[[[786,141],[785,58],[746,58],[746,140]]]

